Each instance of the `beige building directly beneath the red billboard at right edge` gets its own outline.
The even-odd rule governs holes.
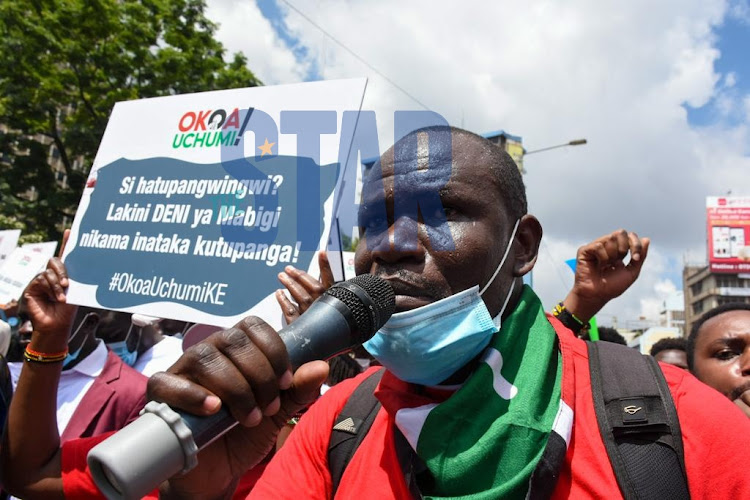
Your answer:
[[[682,288],[688,334],[704,312],[729,302],[750,303],[750,275],[746,274],[714,273],[709,266],[685,266]]]

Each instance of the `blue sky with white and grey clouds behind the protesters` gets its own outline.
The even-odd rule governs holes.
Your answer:
[[[208,0],[207,15],[266,84],[368,77],[383,149],[393,112],[419,103],[529,151],[586,138],[528,156],[524,181],[545,230],[534,287],[548,306],[580,245],[618,228],[652,238],[600,324],[656,319],[684,259],[705,259],[705,197],[750,195],[747,0]]]

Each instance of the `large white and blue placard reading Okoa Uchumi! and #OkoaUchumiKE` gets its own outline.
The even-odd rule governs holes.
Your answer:
[[[253,314],[280,327],[277,274],[309,270],[328,241],[354,133],[343,117],[359,112],[365,84],[118,103],[65,249],[68,300],[219,326]]]

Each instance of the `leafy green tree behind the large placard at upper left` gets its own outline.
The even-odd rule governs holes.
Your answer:
[[[242,54],[224,59],[204,10],[203,0],[0,2],[0,228],[59,239],[116,102],[261,84]]]

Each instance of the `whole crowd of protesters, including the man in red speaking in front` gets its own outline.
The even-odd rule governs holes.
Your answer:
[[[663,469],[624,477],[618,452],[613,455],[609,436],[600,431],[592,386],[595,378],[607,378],[608,367],[590,366],[594,355],[585,341],[588,321],[638,278],[650,240],[615,231],[584,245],[570,293],[545,308],[522,282],[536,262],[542,227],[528,213],[516,165],[471,132],[450,128],[437,137],[445,138],[446,130],[448,147],[431,143],[428,154],[417,141],[413,152],[429,158],[430,169],[448,169],[435,176],[450,179],[444,186],[433,185],[424,169],[399,169],[398,148],[387,151],[364,181],[355,268],[392,285],[396,314],[364,349],[330,367],[314,361],[292,373],[280,338],[257,318],[183,353],[185,323],[69,305],[65,266],[52,259],[12,305],[16,311],[8,310],[21,327],[10,342],[18,347],[3,353],[9,371],[0,366],[0,382],[7,381],[0,383],[3,488],[21,498],[100,496],[88,450],[152,399],[196,415],[226,405],[242,424],[203,449],[192,471],[153,492],[164,497],[663,493]],[[394,215],[395,197],[424,199],[431,189],[439,189],[450,251],[430,239],[435,232],[425,227],[427,216]],[[372,208],[381,204],[385,224]],[[398,244],[409,235],[416,237],[413,244]],[[320,255],[319,278],[292,267],[279,276],[286,292],[276,298],[287,322],[333,284]],[[624,343],[613,329],[600,328],[599,335],[600,342]],[[744,472],[750,306],[709,311],[686,341],[658,342],[651,355],[661,368],[654,377],[668,388],[662,398],[679,420],[679,442],[651,429],[653,442],[628,445],[655,445],[656,451],[648,448],[654,462],[665,446],[674,451],[675,477],[685,489],[669,487],[678,498],[683,491],[694,498],[750,498]],[[377,406],[366,434],[358,436],[344,469],[331,470],[332,432],[357,387],[373,376],[381,378],[367,395]],[[648,404],[630,399],[628,416],[618,417],[624,434],[651,415]]]

